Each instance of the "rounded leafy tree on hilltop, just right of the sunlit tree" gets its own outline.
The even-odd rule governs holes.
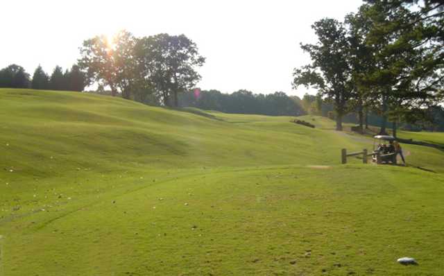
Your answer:
[[[191,89],[200,80],[196,68],[203,65],[205,58],[185,35],[143,37],[136,49],[142,77],[153,85],[165,105],[177,107],[178,93]]]

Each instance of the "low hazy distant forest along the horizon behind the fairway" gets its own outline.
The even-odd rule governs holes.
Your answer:
[[[302,98],[288,96],[284,92],[273,94],[254,94],[241,89],[232,94],[224,94],[218,90],[202,90],[198,94],[189,91],[180,94],[180,107],[196,107],[202,110],[215,110],[225,113],[262,114],[268,116],[300,116],[305,114],[318,115],[335,119],[334,105],[324,101],[321,96],[305,94]],[[401,123],[404,130],[444,131],[444,108],[429,107],[426,121],[415,124]],[[366,125],[382,126],[383,119],[376,112],[368,110],[364,114]],[[351,111],[343,118],[346,123],[359,123],[356,111]]]

